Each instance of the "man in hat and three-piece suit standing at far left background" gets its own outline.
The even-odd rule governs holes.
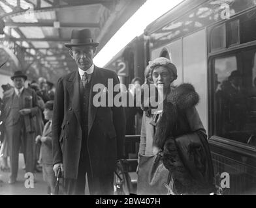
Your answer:
[[[21,71],[11,77],[14,91],[6,98],[4,108],[5,133],[10,154],[10,180],[16,182],[18,174],[19,149],[24,149],[25,170],[34,172],[35,123],[37,116],[37,95],[24,88],[27,76]]]

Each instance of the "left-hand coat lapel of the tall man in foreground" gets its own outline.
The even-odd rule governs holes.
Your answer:
[[[67,90],[69,92],[69,99],[72,103],[72,109],[76,114],[76,118],[78,122],[81,121],[80,116],[80,89],[79,89],[79,73],[76,70],[74,73],[71,74],[71,77],[67,80]]]

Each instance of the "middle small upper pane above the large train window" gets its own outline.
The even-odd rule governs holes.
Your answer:
[[[240,43],[239,23],[239,19],[236,19],[227,25],[229,46]]]

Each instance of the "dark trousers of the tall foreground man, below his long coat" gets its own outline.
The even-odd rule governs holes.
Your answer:
[[[88,177],[89,194],[112,195],[114,194],[114,173],[100,173],[91,175],[89,155],[86,146],[87,134],[82,135],[82,147],[77,179],[64,179],[65,194],[84,195],[86,188],[86,174]],[[100,154],[100,153],[99,153]]]

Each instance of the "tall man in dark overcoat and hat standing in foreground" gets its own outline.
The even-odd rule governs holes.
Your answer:
[[[123,107],[96,107],[93,86],[119,83],[116,73],[93,64],[91,31],[72,31],[69,47],[77,69],[59,79],[52,120],[54,172],[61,168],[67,194],[84,194],[86,174],[90,194],[113,194],[116,161],[123,157]],[[115,96],[116,92],[114,92]]]

